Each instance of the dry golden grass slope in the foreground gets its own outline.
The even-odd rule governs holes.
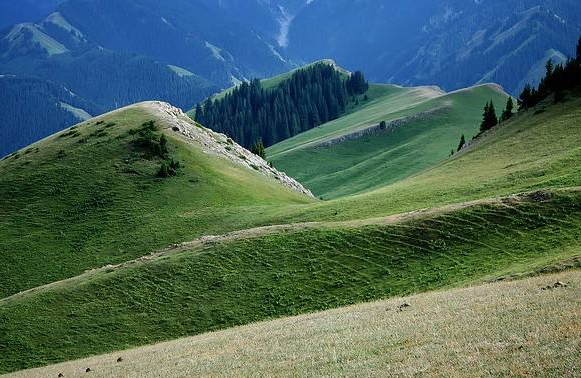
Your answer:
[[[557,281],[568,286],[542,290]],[[400,310],[404,303],[410,307]],[[123,361],[117,362],[119,357]],[[257,323],[6,377],[59,373],[166,378],[581,377],[581,271]]]

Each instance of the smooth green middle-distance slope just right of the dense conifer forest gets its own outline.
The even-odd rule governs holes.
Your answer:
[[[484,85],[444,95],[436,88],[372,85],[369,103],[267,150],[274,165],[325,199],[363,193],[402,180],[445,160],[460,136],[478,133],[483,104],[507,95]],[[354,140],[332,140],[381,121],[403,125]]]

